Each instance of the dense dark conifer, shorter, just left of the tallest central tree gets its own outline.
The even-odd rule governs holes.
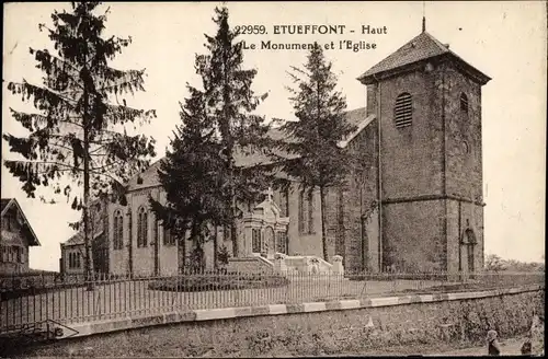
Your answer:
[[[226,164],[219,155],[221,146],[214,118],[207,115],[204,93],[192,86],[187,89],[190,97],[181,104],[182,124],[176,127],[171,150],[158,170],[167,200],[161,204],[150,198],[150,202],[162,227],[179,239],[183,254],[186,238],[192,240],[197,254],[194,265],[201,267],[207,225],[229,223],[226,199],[220,192]],[[184,262],[180,266],[185,268]]]

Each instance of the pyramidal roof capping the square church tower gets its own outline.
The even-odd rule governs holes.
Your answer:
[[[364,84],[372,83],[386,74],[402,70],[412,63],[444,56],[456,60],[466,72],[476,78],[481,84],[486,84],[491,80],[490,77],[463,60],[457,54],[449,50],[448,46],[442,44],[425,31],[372,67],[357,79]]]

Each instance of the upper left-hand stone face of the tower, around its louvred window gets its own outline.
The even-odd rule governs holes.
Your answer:
[[[435,72],[413,71],[379,84],[383,199],[442,194],[443,125]],[[412,96],[412,125],[395,125],[396,99]]]

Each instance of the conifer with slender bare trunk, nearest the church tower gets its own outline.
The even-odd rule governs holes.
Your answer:
[[[292,94],[289,100],[298,120],[282,126],[282,130],[294,140],[278,142],[278,148],[290,158],[282,164],[283,171],[289,177],[298,178],[309,195],[316,188],[320,190],[321,238],[326,260],[327,190],[344,183],[350,171],[351,153],[339,142],[355,130],[346,121],[346,100],[335,90],[336,77],[331,67],[321,46],[317,44],[310,50],[304,69],[292,67],[293,72],[289,74],[297,89],[288,88]]]

